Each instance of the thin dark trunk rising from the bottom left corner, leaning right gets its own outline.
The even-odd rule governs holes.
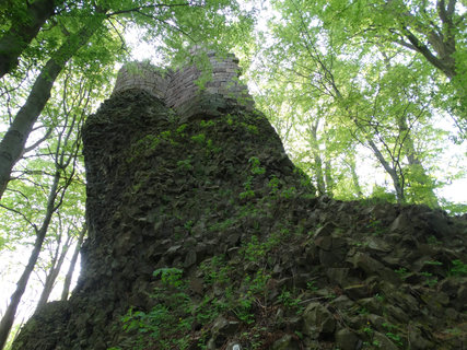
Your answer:
[[[34,270],[34,266],[37,262],[37,258],[40,254],[40,249],[43,247],[43,243],[50,224],[51,217],[54,212],[57,210],[55,206],[55,201],[58,195],[58,183],[60,180],[60,173],[57,172],[54,177],[54,183],[50,188],[50,192],[47,199],[47,211],[45,218],[43,220],[43,224],[40,229],[36,230],[36,241],[34,242],[34,248],[31,253],[30,260],[27,261],[26,267],[24,268],[23,275],[20,277],[20,280],[16,283],[16,290],[11,295],[10,304],[7,307],[7,311],[0,322],[0,349],[3,349],[8,335],[10,334],[11,327],[14,322],[14,316],[16,314],[17,305],[20,304],[21,298],[26,290],[27,281],[30,280],[30,276]]]

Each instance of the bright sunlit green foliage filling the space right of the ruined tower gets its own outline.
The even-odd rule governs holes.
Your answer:
[[[411,30],[429,40],[429,28],[441,25],[436,11],[421,1],[400,1],[400,8],[382,1],[272,1],[272,8],[278,15],[257,36],[261,62],[250,71],[267,92],[256,102],[318,192],[355,199],[375,183],[373,198],[436,207],[434,190],[464,172],[439,172],[452,155],[450,132],[437,127],[436,114],[453,116],[459,106],[441,107],[445,81],[420,52],[407,49],[410,45],[399,46],[407,40],[404,25],[413,23],[425,25]],[[407,13],[413,22],[402,24]],[[458,9],[453,16],[459,18]],[[460,48],[465,35],[460,22],[455,26]],[[459,121],[462,114],[453,117]],[[458,139],[459,132],[450,137]],[[372,168],[361,145],[377,161]],[[377,176],[364,176],[361,164]]]

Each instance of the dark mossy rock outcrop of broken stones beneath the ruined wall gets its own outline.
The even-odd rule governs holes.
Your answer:
[[[466,345],[466,220],[316,198],[265,116],[232,102],[180,117],[128,88],[83,140],[79,283],[13,349]]]

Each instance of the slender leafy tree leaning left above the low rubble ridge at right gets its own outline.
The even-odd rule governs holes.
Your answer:
[[[264,74],[272,77],[267,86],[284,101],[297,101],[308,117],[324,117],[370,149],[392,179],[400,202],[435,207],[435,184],[422,156],[429,150],[419,149],[433,132],[433,70],[392,42],[373,38],[362,45],[361,37],[360,42],[349,37],[339,21],[330,20],[338,15],[329,10],[330,4],[318,7],[317,2],[273,2],[280,15],[271,19],[266,34],[273,39],[259,45],[269,62]],[[278,89],[280,84],[285,88]],[[310,128],[311,139],[317,138],[316,131]],[[311,147],[310,152],[316,154],[316,150]],[[348,150],[353,148],[340,148],[342,153]],[[352,186],[361,192],[359,187]]]

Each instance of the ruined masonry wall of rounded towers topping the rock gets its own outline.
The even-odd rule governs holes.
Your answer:
[[[199,114],[218,115],[232,105],[252,110],[253,98],[247,88],[238,81],[238,59],[232,54],[219,58],[214,51],[209,51],[207,56],[210,66],[208,72],[202,72],[195,65],[176,71],[163,70],[148,62],[126,65],[118,73],[114,94],[135,88],[142,89],[185,118]],[[200,89],[198,81],[203,73],[211,75]]]

